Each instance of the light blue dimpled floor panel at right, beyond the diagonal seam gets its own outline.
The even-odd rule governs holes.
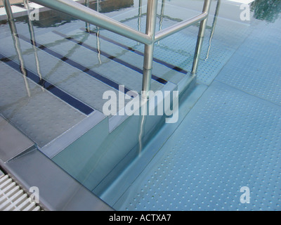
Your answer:
[[[217,79],[281,105],[280,23],[265,23],[240,46]]]

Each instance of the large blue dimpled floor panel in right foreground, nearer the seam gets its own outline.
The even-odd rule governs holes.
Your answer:
[[[214,82],[115,208],[280,210],[280,115]],[[240,203],[243,186],[249,204]]]

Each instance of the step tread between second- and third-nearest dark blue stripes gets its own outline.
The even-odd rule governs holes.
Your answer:
[[[63,37],[62,37],[63,36]],[[110,79],[120,85],[124,85],[129,90],[137,91],[141,93],[143,75],[142,71],[136,71],[130,68],[128,63],[124,60],[117,62],[114,56],[103,51],[100,56],[96,51],[93,51],[91,45],[86,45],[84,42],[88,39],[90,34],[84,35],[81,39],[69,40],[60,32],[50,32],[48,35],[40,35],[37,37],[37,41],[40,44],[44,44],[49,49],[60,53],[62,56],[70,58],[84,68],[89,68],[97,72],[99,75]],[[73,41],[76,40],[76,41]],[[77,44],[78,42],[78,44]],[[93,42],[96,44],[96,41]],[[88,48],[87,48],[88,47]],[[106,55],[105,55],[106,54]],[[157,77],[159,78],[159,77]],[[152,90],[156,91],[162,88],[166,81],[157,82],[152,80]]]

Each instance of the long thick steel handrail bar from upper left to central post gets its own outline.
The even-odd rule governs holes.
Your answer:
[[[106,30],[110,30],[117,34],[120,34],[129,39],[141,42],[143,44],[152,44],[152,37],[148,34],[138,32],[131,27],[128,27],[122,23],[119,23],[112,18],[107,17],[101,13],[98,13],[91,8],[83,6],[75,1],[71,0],[32,0],[37,4],[46,6],[48,8],[55,9],[57,11],[71,15],[74,18],[83,20],[84,22],[91,23],[98,27],[102,27]]]

